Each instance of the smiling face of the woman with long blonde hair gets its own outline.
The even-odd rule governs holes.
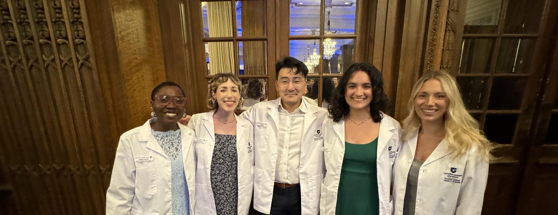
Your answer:
[[[413,103],[415,112],[422,121],[434,122],[444,120],[444,114],[448,109],[450,99],[440,81],[429,79],[422,84]]]

